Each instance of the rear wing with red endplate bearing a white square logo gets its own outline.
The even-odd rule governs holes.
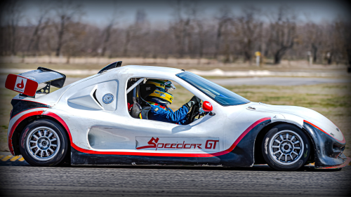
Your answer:
[[[5,87],[22,95],[34,97],[35,93],[50,93],[50,86],[62,88],[66,76],[52,69],[38,67],[36,70],[21,74],[8,74]],[[44,88],[37,90],[40,83],[46,83]]]

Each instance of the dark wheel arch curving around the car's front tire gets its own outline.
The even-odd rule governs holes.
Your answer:
[[[270,123],[269,125],[266,125],[264,128],[262,128],[262,130],[260,130],[258,135],[256,135],[256,139],[254,142],[254,151],[253,151],[254,164],[265,164],[266,163],[265,159],[263,158],[263,154],[262,154],[262,150],[261,150],[263,138],[265,137],[265,135],[268,133],[268,131],[271,128],[273,128],[276,125],[283,124],[283,123],[289,124],[289,125],[294,125],[294,126],[300,128],[300,130],[302,130],[303,133],[305,133],[307,135],[308,139],[313,144],[313,147],[315,149],[314,140],[311,137],[310,133],[308,133],[307,130],[305,130],[305,128],[303,128],[303,127],[301,128],[300,125],[298,125],[297,123],[277,121],[277,122]],[[314,149],[311,149],[311,154],[310,154],[310,158],[308,159],[308,161],[314,162]]]

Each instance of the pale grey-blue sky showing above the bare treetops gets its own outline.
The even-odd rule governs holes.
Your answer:
[[[171,20],[171,13],[173,12],[172,5],[174,2],[171,0],[129,0],[129,1],[116,1],[112,0],[73,0],[77,4],[82,4],[84,9],[84,22],[90,22],[93,25],[105,26],[106,20],[111,18],[113,12],[117,12],[117,17],[121,25],[126,25],[133,22],[135,19],[135,12],[138,9],[143,9],[147,13],[147,19],[152,23],[153,26],[165,26]],[[37,15],[39,11],[39,5],[51,4],[48,0],[27,0],[23,1],[24,13],[27,18],[32,18]],[[300,20],[306,21],[305,15],[308,15],[310,20],[314,22],[322,22],[324,20],[334,20],[337,17],[349,18],[350,8],[345,1],[208,1],[199,0],[197,4],[201,7],[202,15],[205,15],[208,19],[218,12],[218,9],[223,6],[228,6],[232,9],[234,15],[239,15],[241,8],[246,5],[254,5],[261,8],[263,11],[274,11],[280,5],[289,5],[295,10]],[[116,9],[117,8],[117,9]]]

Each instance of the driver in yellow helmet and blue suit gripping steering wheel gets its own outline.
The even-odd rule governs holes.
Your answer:
[[[156,90],[146,98],[147,102],[151,105],[148,114],[150,120],[184,125],[188,119],[187,112],[190,111],[194,104],[201,102],[198,97],[193,96],[189,102],[185,103],[177,111],[173,111],[168,107],[168,104],[172,104],[173,101],[173,95],[168,93],[168,91],[175,90],[176,86],[168,80],[149,79],[146,83],[156,86]]]

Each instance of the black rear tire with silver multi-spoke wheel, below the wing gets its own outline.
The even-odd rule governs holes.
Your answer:
[[[34,166],[55,166],[69,156],[65,130],[55,121],[38,119],[25,126],[20,135],[20,153]]]

